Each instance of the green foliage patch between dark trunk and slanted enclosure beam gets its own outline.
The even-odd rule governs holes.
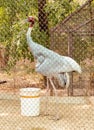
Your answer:
[[[48,13],[50,27],[55,26],[62,21],[67,15],[77,8],[77,4],[69,0],[48,1],[45,7]]]

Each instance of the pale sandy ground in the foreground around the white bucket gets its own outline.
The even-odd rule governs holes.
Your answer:
[[[37,117],[22,116],[20,100],[0,100],[0,130],[94,130],[94,98],[59,98],[57,103],[49,98],[49,115],[44,116],[46,99]],[[55,121],[57,112],[60,120]]]

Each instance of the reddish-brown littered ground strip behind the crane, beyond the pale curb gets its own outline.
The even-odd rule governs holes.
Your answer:
[[[29,68],[30,69],[30,68]],[[27,71],[29,71],[27,73]],[[75,76],[76,77],[76,76]],[[86,79],[86,78],[85,78]],[[74,79],[76,82],[76,78]],[[24,87],[40,87],[44,88],[43,77],[37,73],[31,73],[30,70],[25,70],[24,66],[20,70],[16,69],[9,74],[4,71],[0,71],[0,81],[7,81],[5,84],[0,84],[0,94],[2,93],[12,93],[17,94],[20,88]],[[79,86],[79,83],[78,83]],[[83,86],[77,87],[77,84],[74,85],[74,96],[94,95],[94,88],[89,87],[89,82],[83,82]],[[68,91],[66,89],[59,89],[59,95],[67,96]]]

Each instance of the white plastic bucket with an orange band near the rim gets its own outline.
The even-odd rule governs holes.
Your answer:
[[[38,116],[40,113],[40,88],[20,89],[21,115]]]

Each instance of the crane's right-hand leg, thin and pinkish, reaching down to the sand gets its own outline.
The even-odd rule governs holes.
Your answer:
[[[56,103],[58,102],[57,101],[57,91],[56,91],[56,87],[55,87],[55,85],[54,85],[54,83],[53,83],[53,81],[52,81],[52,79],[49,79],[50,80],[50,83],[51,83],[51,85],[52,85],[52,87],[53,87],[53,89],[54,89],[54,93],[55,93],[55,98],[56,98]],[[58,115],[58,110],[57,110],[57,108],[58,108],[58,106],[56,106],[56,109],[55,109],[55,118],[54,118],[54,120],[59,120],[59,115]]]

